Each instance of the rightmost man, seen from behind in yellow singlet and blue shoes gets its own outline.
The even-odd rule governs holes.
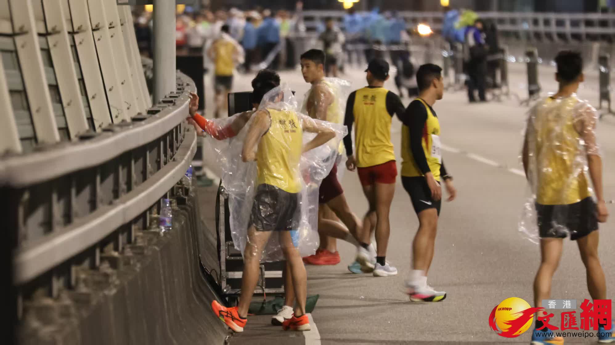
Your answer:
[[[541,264],[534,279],[536,307],[550,298],[563,239],[568,235],[579,247],[593,303],[607,298],[598,257],[598,223],[608,218],[595,133],[598,116],[596,109],[576,96],[584,81],[581,54],[560,52],[555,63],[559,89],[531,109],[523,141],[523,167],[533,194],[525,209],[531,210],[529,218],[537,221],[531,232],[537,232],[541,248]],[[532,344],[563,344],[563,338],[545,328],[543,315],[544,311],[538,311]],[[611,329],[611,320],[594,322],[598,323],[598,343],[615,343],[615,337],[605,331]]]

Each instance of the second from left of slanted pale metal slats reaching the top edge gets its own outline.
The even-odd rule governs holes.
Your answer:
[[[85,109],[77,84],[77,73],[73,62],[71,45],[68,41],[68,33],[60,7],[60,0],[42,0],[43,10],[49,42],[49,52],[54,63],[55,77],[60,89],[62,106],[68,125],[70,138],[74,139],[77,135],[89,129],[87,119],[85,119]]]

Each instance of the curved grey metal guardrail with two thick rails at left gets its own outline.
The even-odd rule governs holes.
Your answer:
[[[151,61],[145,61],[151,74]],[[181,179],[196,151],[186,130],[189,92],[177,89],[129,122],[44,151],[0,160],[3,219],[17,239],[14,285],[20,301],[57,297],[150,227],[159,200]],[[18,306],[21,306],[19,303]],[[18,311],[20,314],[21,311]]]

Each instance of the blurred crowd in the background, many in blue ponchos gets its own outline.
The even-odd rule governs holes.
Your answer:
[[[472,10],[443,7],[442,38],[455,50],[456,43],[463,44],[464,72],[469,89],[478,90],[484,100],[485,76],[495,73],[498,61],[490,56],[500,52],[498,32],[494,23],[483,22]],[[135,30],[141,54],[152,52],[152,13],[146,7],[133,9]],[[316,23],[315,31],[306,32],[303,22],[303,3],[296,2],[295,11],[256,8],[194,11],[188,6],[178,7],[176,46],[178,55],[203,55],[207,70],[208,46],[221,35],[223,25],[230,28],[229,36],[245,52],[244,63],[237,67],[242,73],[253,69],[292,69],[303,51],[317,48],[325,51],[327,76],[338,76],[347,64],[363,65],[372,58],[391,61],[397,74],[395,84],[402,95],[416,90],[415,68],[411,62],[411,44],[419,36],[417,28],[409,28],[405,19],[395,11],[370,12],[347,10],[343,18],[324,18]],[[429,32],[431,34],[431,31]],[[441,47],[438,47],[440,50]],[[421,61],[422,62],[422,61]],[[489,78],[489,80],[494,78]],[[473,92],[472,92],[473,93]],[[470,97],[470,101],[473,100]]]

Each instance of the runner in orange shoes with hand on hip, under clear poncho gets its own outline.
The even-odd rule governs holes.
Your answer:
[[[275,89],[276,85],[271,81],[256,81],[253,85],[255,89],[252,92],[252,103],[258,108],[263,96]],[[276,102],[282,99],[281,91],[278,98]],[[309,330],[309,320],[305,314],[306,270],[291,236],[291,231],[298,229],[300,223],[302,184],[299,163],[301,154],[324,145],[335,137],[335,132],[290,109],[280,110],[264,106],[252,117],[252,124],[244,141],[242,160],[256,161],[258,173],[248,240],[244,250],[241,295],[236,307],[224,307],[213,301],[212,309],[232,330],[244,330],[248,307],[260,276],[261,253],[272,232],[277,232],[282,252],[290,265],[297,304],[292,317],[285,320],[282,327],[285,330]],[[303,131],[316,133],[305,145]]]

